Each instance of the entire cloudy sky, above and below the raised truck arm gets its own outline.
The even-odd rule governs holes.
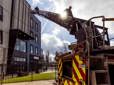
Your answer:
[[[93,16],[104,15],[114,17],[114,0],[27,0],[31,7],[38,6],[42,10],[60,13],[64,9],[72,6],[73,15],[77,18],[89,19]],[[54,57],[56,51],[64,51],[64,47],[76,39],[69,32],[59,25],[37,16],[42,25],[42,48],[44,53],[48,50],[50,56]],[[95,20],[96,22],[96,20]],[[102,22],[97,19],[96,24],[102,26]],[[109,28],[110,38],[114,37],[114,22],[106,22]],[[111,41],[114,45],[114,41]]]

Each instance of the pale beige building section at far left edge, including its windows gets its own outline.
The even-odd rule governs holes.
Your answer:
[[[11,3],[11,0],[0,0],[0,75],[6,72]]]

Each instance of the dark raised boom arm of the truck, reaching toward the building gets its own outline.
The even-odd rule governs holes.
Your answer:
[[[70,34],[74,35],[78,43],[89,42],[90,49],[98,49],[100,46],[109,45],[109,38],[107,28],[97,26],[90,20],[83,20],[75,18],[72,14],[71,7],[65,10],[67,12],[67,18],[62,19],[59,14],[40,10],[38,7],[32,10],[32,14],[38,14],[44,18],[47,18],[56,24],[65,27]],[[104,30],[104,34],[100,33],[98,29]],[[103,38],[106,36],[106,40]],[[104,41],[104,43],[103,43]]]

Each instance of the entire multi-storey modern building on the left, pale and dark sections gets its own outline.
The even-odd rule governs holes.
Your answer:
[[[0,0],[0,65],[4,73],[6,69],[7,74],[26,73],[33,69],[31,64],[36,62],[37,67],[40,61],[41,23],[30,12],[26,0]]]

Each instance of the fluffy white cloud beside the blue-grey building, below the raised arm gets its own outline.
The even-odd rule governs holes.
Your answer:
[[[42,47],[44,50],[57,51],[63,47],[63,42],[55,35],[42,34]]]

